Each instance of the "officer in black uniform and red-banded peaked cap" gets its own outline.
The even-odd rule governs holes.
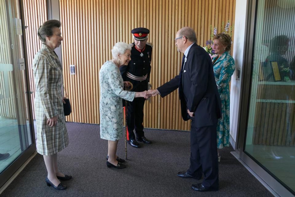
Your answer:
[[[130,81],[133,84],[133,92],[142,92],[148,90],[148,82],[151,73],[151,51],[152,44],[148,43],[148,33],[146,28],[135,28],[131,31],[134,42],[131,45],[131,61],[127,66],[120,67],[120,72],[124,81]],[[140,148],[137,142],[151,144],[144,136],[144,98],[135,98],[132,102],[127,103],[127,131],[128,144],[132,147]],[[136,138],[133,130],[135,129]]]

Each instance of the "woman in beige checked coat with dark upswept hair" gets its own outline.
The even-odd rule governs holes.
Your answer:
[[[63,38],[59,29],[61,22],[49,20],[38,30],[42,49],[33,60],[36,85],[35,113],[37,122],[37,152],[43,155],[48,175],[48,186],[64,190],[60,180],[72,176],[62,174],[57,167],[57,152],[68,146],[69,138],[65,126],[62,96],[62,67],[54,49],[61,45]]]

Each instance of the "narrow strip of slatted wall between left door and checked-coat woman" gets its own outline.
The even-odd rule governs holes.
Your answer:
[[[23,0],[24,6],[24,20],[26,26],[26,50],[27,50],[27,60],[29,69],[29,79],[30,79],[30,90],[33,91],[31,94],[31,102],[33,106],[33,119],[35,119],[35,81],[33,77],[32,62],[35,54],[41,49],[41,41],[38,38],[37,30],[45,21],[48,20],[47,16],[47,4],[46,0]]]

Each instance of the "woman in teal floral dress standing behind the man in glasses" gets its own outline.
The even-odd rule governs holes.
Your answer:
[[[229,146],[230,137],[230,88],[234,73],[234,58],[230,56],[231,38],[228,34],[218,33],[213,37],[212,49],[218,56],[212,59],[215,81],[221,98],[222,116],[217,124],[217,148]],[[218,161],[220,155],[218,153]]]

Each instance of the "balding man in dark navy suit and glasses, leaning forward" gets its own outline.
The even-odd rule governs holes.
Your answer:
[[[211,58],[196,44],[195,31],[184,27],[176,33],[177,51],[184,53],[179,75],[149,92],[165,97],[179,88],[181,115],[191,119],[191,157],[187,171],[178,173],[183,178],[201,179],[193,184],[197,191],[218,190],[218,158],[216,127],[221,116],[221,101],[214,78]]]

